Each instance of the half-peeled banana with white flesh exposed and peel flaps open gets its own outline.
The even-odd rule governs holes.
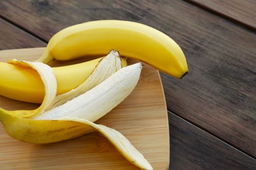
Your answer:
[[[30,118],[28,114],[24,114],[24,110],[15,112],[0,108],[0,120],[11,137],[28,143],[54,143],[98,131],[131,163],[141,169],[153,169],[144,156],[121,133],[110,127],[93,123],[114,109],[133,91],[139,81],[141,63],[121,68],[121,60],[119,60],[117,63],[119,67],[117,70],[114,69],[116,73],[107,74],[110,75],[108,78],[102,74],[92,74],[102,76],[102,82],[81,95],[77,90],[80,92],[85,88],[77,87],[77,90],[73,90],[72,94],[68,95],[68,99],[64,99],[66,103],[47,111],[44,111],[45,108],[51,106],[56,95],[57,86],[53,69],[43,63],[28,61],[12,61],[12,63],[33,67],[45,84],[46,94],[41,105],[43,109],[32,111]],[[102,73],[102,69],[95,69],[95,72]],[[88,78],[87,80],[94,82],[96,79]],[[69,101],[70,96],[75,98]]]

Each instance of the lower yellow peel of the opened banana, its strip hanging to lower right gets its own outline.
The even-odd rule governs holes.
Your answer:
[[[62,120],[32,120],[9,114],[0,108],[0,120],[12,138],[29,143],[45,144],[75,139],[98,131],[131,163],[141,169],[153,169],[150,163],[121,133],[89,120],[62,118]],[[15,125],[15,126],[13,126]],[[39,130],[42,129],[43,131]],[[43,138],[42,138],[43,136]]]

